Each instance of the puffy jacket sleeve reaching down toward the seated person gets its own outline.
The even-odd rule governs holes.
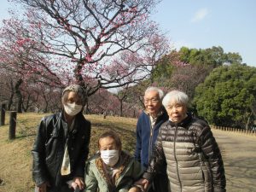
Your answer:
[[[153,153],[151,159],[149,160],[148,169],[143,174],[143,178],[146,178],[149,182],[153,180],[154,175],[157,172],[162,170],[162,166],[166,165],[166,156],[164,154],[161,139],[162,130],[163,129],[160,129],[156,142],[154,143]]]

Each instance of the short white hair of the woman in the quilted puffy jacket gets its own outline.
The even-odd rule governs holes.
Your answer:
[[[189,105],[189,96],[185,94],[183,91],[180,90],[172,90],[169,93],[166,94],[166,96],[163,99],[163,106],[165,108],[168,106],[168,104],[171,101],[179,102],[188,107]]]

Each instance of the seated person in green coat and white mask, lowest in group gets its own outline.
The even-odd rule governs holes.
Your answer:
[[[113,131],[98,140],[99,153],[88,160],[84,192],[140,192],[133,185],[143,175],[143,168],[130,154],[122,151],[119,136]]]

